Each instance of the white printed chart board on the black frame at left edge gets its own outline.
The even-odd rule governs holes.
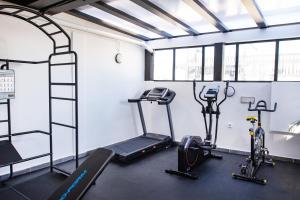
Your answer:
[[[0,100],[15,98],[15,71],[0,70]]]

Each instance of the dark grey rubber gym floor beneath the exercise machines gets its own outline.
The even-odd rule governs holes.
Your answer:
[[[231,173],[238,172],[243,156],[225,153],[222,155],[223,160],[208,160],[197,168],[196,172],[200,176],[198,180],[189,180],[164,172],[165,169],[176,168],[176,148],[149,155],[130,165],[111,163],[83,199],[300,199],[300,165],[278,161],[274,168],[261,168],[258,176],[268,179],[268,184],[264,186],[232,179]],[[65,167],[68,168],[70,164],[66,164]],[[41,173],[45,172],[38,172],[34,176]],[[23,176],[14,182],[28,178],[31,177]],[[45,182],[41,182],[43,181]]]

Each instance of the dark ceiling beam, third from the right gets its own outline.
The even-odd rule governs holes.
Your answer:
[[[139,5],[140,7],[144,8],[145,10],[159,16],[160,18],[163,18],[164,20],[168,21],[171,24],[174,24],[175,26],[179,26],[183,30],[185,30],[187,33],[191,35],[198,35],[199,32],[186,23],[182,22],[181,20],[177,19],[170,13],[166,12],[165,10],[161,9],[157,5],[151,3],[148,0],[130,0],[133,3]]]

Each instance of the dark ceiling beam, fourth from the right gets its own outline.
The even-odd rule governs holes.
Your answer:
[[[156,27],[154,27],[154,26],[152,26],[152,25],[150,25],[150,24],[148,24],[148,23],[146,23],[146,22],[144,22],[144,21],[142,21],[138,18],[135,18],[131,15],[128,15],[127,13],[125,13],[121,10],[118,10],[118,9],[116,9],[116,8],[106,4],[106,3],[97,2],[97,3],[91,4],[91,6],[94,6],[98,9],[100,9],[100,10],[103,10],[104,12],[107,12],[111,15],[114,15],[118,18],[121,18],[125,21],[128,21],[128,22],[130,22],[130,23],[132,23],[136,26],[140,26],[140,27],[142,27],[142,28],[144,28],[148,31],[151,31],[151,32],[156,33],[158,35],[161,35],[163,37],[167,37],[167,38],[173,37],[173,35],[165,32],[165,31],[159,30],[158,28],[156,28]]]

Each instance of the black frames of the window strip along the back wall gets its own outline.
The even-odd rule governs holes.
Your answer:
[[[281,39],[266,39],[266,40],[253,40],[253,41],[243,41],[243,42],[224,42],[224,45],[236,45],[236,54],[235,54],[235,79],[234,81],[230,82],[241,82],[241,83],[271,83],[271,82],[300,82],[300,80],[295,81],[278,81],[278,65],[279,65],[279,49],[280,49],[280,42],[282,41],[292,41],[292,40],[300,40],[300,37],[293,37],[293,38],[281,38]],[[275,54],[274,54],[274,78],[272,81],[242,81],[238,80],[238,69],[239,69],[239,46],[241,44],[252,44],[252,43],[265,43],[265,42],[275,42]],[[205,47],[215,46],[215,44],[208,44],[208,45],[193,45],[193,46],[180,46],[180,47],[168,47],[168,48],[157,48],[154,51],[159,50],[173,50],[173,79],[172,80],[155,80],[153,77],[152,81],[160,81],[160,82],[192,82],[193,80],[175,80],[175,60],[176,60],[176,49],[185,49],[185,48],[199,48],[202,47],[202,51],[205,52]],[[215,80],[203,80],[204,78],[204,68],[205,66],[205,53],[202,55],[202,80],[196,80],[197,82],[213,82]],[[155,66],[154,66],[155,67]]]

